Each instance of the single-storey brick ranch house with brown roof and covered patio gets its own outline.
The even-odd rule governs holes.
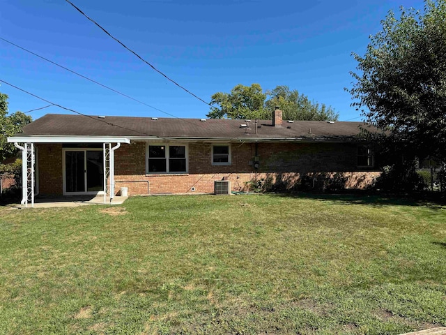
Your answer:
[[[22,150],[24,203],[37,194],[113,198],[121,187],[129,195],[214,193],[215,181],[244,191],[249,181],[305,175],[341,174],[346,188],[364,188],[379,172],[359,126],[284,121],[281,110],[257,122],[47,114],[8,142]]]

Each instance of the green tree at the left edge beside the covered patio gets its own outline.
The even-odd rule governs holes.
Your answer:
[[[31,121],[31,117],[22,112],[8,115],[8,96],[0,93],[0,161],[17,152],[14,144],[8,143],[7,137],[20,133],[22,127]]]

